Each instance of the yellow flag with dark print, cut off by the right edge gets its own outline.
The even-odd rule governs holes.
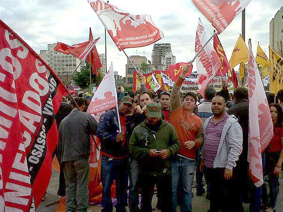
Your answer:
[[[269,47],[270,58],[270,92],[277,94],[283,89],[283,57]]]

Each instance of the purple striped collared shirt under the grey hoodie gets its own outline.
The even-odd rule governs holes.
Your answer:
[[[222,131],[228,118],[229,115],[225,112],[224,116],[217,124],[214,123],[214,118],[211,118],[207,125],[206,138],[204,141],[204,164],[208,168],[213,168],[213,162],[217,154]]]

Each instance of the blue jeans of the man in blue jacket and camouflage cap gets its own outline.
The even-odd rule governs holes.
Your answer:
[[[111,186],[116,181],[117,205],[116,212],[126,212],[127,186],[128,186],[128,158],[119,160],[102,156],[101,181],[102,181],[102,207],[103,212],[112,212]]]

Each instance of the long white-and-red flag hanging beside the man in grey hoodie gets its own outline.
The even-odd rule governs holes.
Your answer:
[[[263,185],[262,152],[273,137],[273,121],[260,72],[249,40],[249,174],[256,187]]]

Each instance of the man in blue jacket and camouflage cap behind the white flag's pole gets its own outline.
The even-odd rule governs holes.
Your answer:
[[[99,120],[97,137],[101,140],[102,212],[112,212],[111,186],[116,181],[116,212],[126,212],[128,187],[128,140],[132,132],[133,99],[124,96],[119,104],[121,132],[116,109]]]

